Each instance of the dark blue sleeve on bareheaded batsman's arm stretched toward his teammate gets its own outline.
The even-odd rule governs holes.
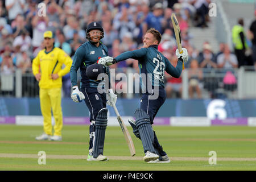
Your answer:
[[[121,53],[121,55],[115,57],[115,61],[119,62],[119,61],[123,61],[129,58],[132,59],[138,59],[139,57],[143,57],[147,54],[147,49],[146,48],[141,48],[135,51],[127,51],[127,52],[123,52]]]

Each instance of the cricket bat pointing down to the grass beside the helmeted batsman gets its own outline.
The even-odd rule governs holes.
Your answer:
[[[127,130],[127,127],[125,126],[125,123],[123,122],[123,119],[119,115],[117,107],[115,107],[115,104],[113,102],[112,102],[112,105],[113,105],[115,114],[117,114],[117,120],[119,122],[119,125],[121,126],[122,131],[123,131],[123,135],[125,135],[125,140],[128,144],[130,154],[131,154],[131,156],[134,156],[135,155],[135,147],[133,144],[133,140],[131,139],[131,135],[130,135],[129,131]]]

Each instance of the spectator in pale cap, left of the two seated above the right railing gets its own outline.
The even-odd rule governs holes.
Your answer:
[[[214,54],[212,47],[209,43],[204,43],[203,52],[199,53],[200,68],[217,68],[217,64],[214,62]]]

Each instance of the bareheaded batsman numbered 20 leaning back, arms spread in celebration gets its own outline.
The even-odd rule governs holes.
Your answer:
[[[183,61],[188,61],[187,49],[182,48],[183,53],[176,49],[178,57],[176,67],[158,51],[158,45],[162,35],[154,28],[147,30],[143,38],[143,48],[135,51],[127,51],[115,57],[102,57],[98,63],[108,66],[129,58],[138,60],[142,84],[141,107],[135,110],[134,120],[129,120],[133,127],[133,133],[141,139],[144,158],[148,163],[170,163],[163,147],[160,146],[155,131],[152,129],[155,115],[166,100],[164,90],[164,71],[175,78],[179,78],[182,72]]]

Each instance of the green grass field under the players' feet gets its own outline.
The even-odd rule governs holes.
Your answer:
[[[89,126],[64,126],[63,141],[36,141],[42,126],[0,125],[0,170],[256,170],[256,130],[247,126],[154,126],[160,144],[171,158],[168,164],[143,162],[141,140],[133,138],[131,158],[120,127],[108,127],[104,155],[108,162],[88,162]],[[38,152],[46,152],[46,165]],[[209,165],[209,151],[217,164]]]

